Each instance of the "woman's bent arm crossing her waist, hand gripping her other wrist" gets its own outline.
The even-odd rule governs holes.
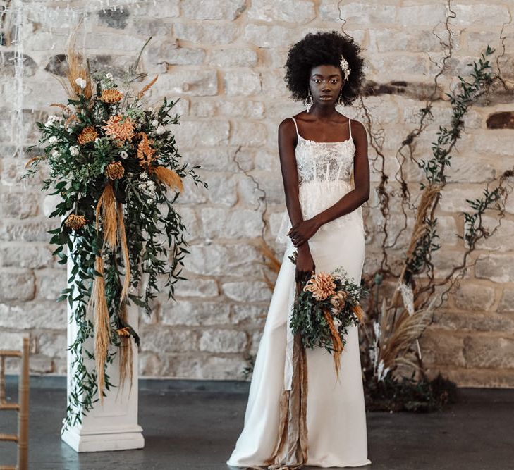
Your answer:
[[[355,211],[357,207],[369,199],[369,162],[367,159],[367,135],[365,127],[358,121],[353,121],[352,137],[355,143],[353,157],[353,178],[355,188],[346,193],[333,206],[320,212],[307,221],[293,224],[290,236],[294,238],[295,247],[302,246],[317,232],[324,223]]]

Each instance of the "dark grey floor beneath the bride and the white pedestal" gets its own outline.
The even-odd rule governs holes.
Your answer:
[[[246,395],[237,387],[213,386],[140,391],[145,448],[89,454],[76,454],[60,439],[64,390],[32,386],[30,469],[228,470],[225,462],[243,425]],[[8,391],[13,390],[11,385]],[[458,404],[440,413],[368,413],[372,465],[359,468],[514,469],[514,390],[467,388],[459,394]],[[0,433],[6,431],[16,431],[11,412],[0,414]],[[0,464],[15,458],[15,446],[0,443]]]

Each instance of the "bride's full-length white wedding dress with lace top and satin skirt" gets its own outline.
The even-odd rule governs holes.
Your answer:
[[[294,120],[294,118],[292,118]],[[343,142],[314,142],[298,132],[295,149],[300,206],[304,220],[335,204],[352,189],[355,145]],[[292,334],[289,315],[295,297],[295,251],[286,237],[290,228],[283,214],[277,241],[286,241],[286,252],[271,297],[267,321],[255,359],[243,432],[227,464],[262,466],[274,452],[279,433],[279,401],[284,384],[290,381]],[[365,256],[362,210],[322,225],[309,240],[316,271],[342,266],[360,283]],[[348,328],[336,378],[331,355],[322,348],[307,350],[307,465],[363,466],[367,459],[367,429],[360,366],[357,326]]]

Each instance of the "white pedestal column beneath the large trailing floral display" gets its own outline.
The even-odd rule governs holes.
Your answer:
[[[68,259],[68,278],[71,271],[71,261]],[[137,331],[137,307],[128,307],[128,323]],[[71,318],[71,308],[68,304],[68,319]],[[77,334],[77,324],[68,323],[68,345],[73,344]],[[104,403],[93,404],[93,409],[82,416],[82,424],[68,428],[62,433],[63,441],[76,452],[99,452],[103,450],[141,449],[145,446],[142,428],[137,424],[137,347],[130,341],[133,348],[133,383],[130,388],[130,377],[126,378],[123,388],[119,383],[119,354],[116,354],[113,364],[109,364],[106,373],[110,382],[117,385],[106,390]],[[73,384],[71,373],[71,352],[68,351],[68,395]],[[85,357],[85,362],[92,361]]]

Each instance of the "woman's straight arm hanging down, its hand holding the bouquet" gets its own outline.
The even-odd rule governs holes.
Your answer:
[[[296,136],[295,123],[292,119],[285,119],[279,125],[279,156],[282,172],[284,192],[286,195],[286,207],[288,209],[291,225],[302,223],[302,209],[300,206],[300,189],[298,184],[298,169],[296,167],[295,146],[298,137]],[[290,235],[290,233],[288,233]],[[303,243],[298,248],[296,258],[295,279],[297,281],[309,278],[314,271],[314,260],[310,253],[308,243]]]

